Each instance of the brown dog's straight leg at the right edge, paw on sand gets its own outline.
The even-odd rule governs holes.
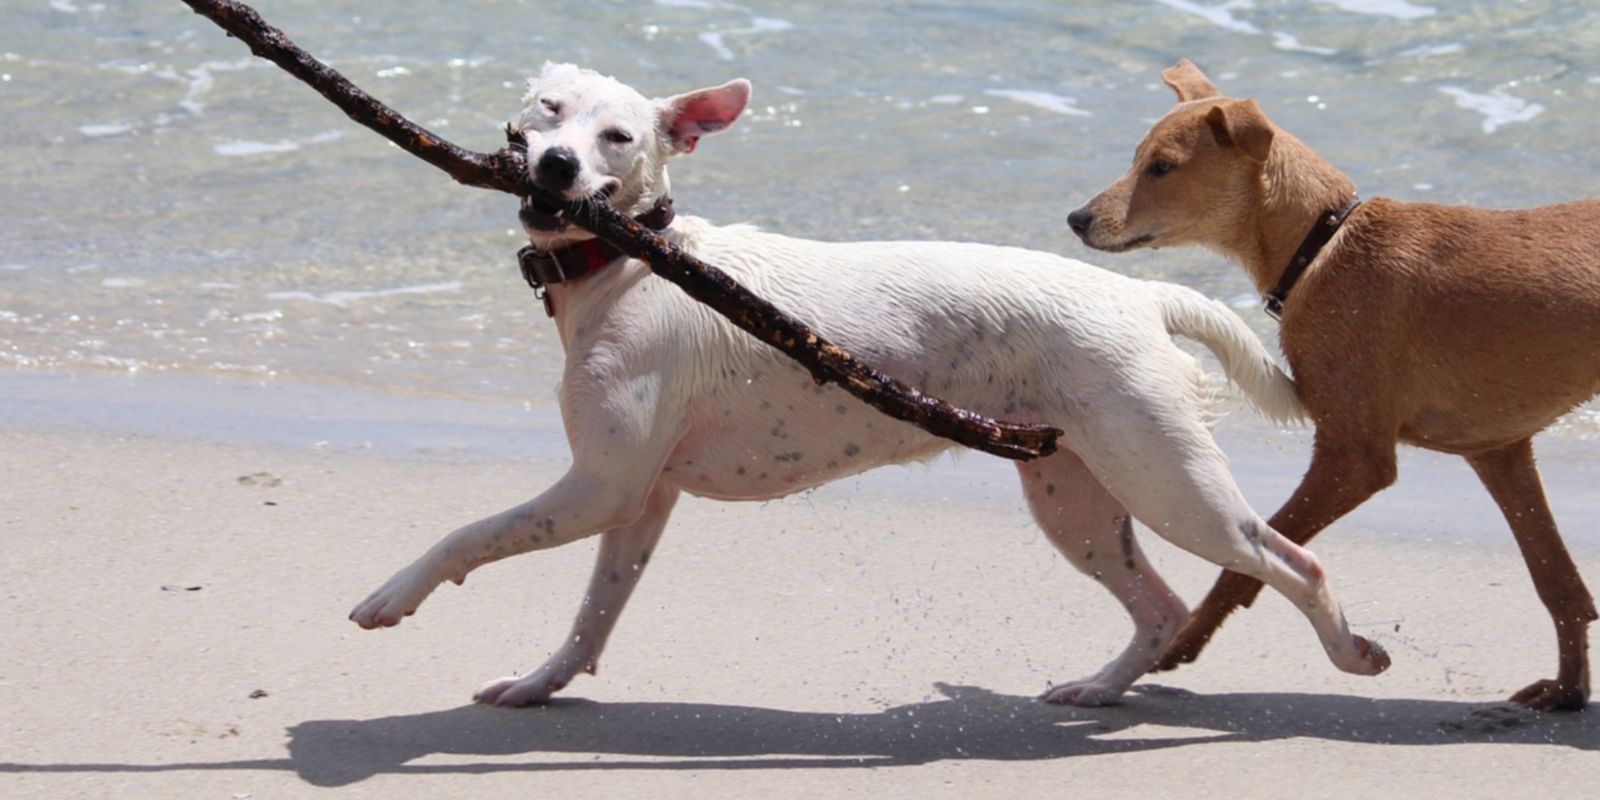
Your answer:
[[[1467,456],[1467,464],[1506,514],[1533,574],[1533,587],[1555,621],[1560,653],[1555,678],[1534,682],[1510,699],[1539,710],[1582,709],[1589,702],[1589,622],[1595,619],[1595,603],[1555,530],[1533,461],[1533,442],[1525,438]]]

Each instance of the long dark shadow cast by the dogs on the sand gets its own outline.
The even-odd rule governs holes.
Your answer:
[[[325,787],[402,773],[1027,762],[1285,738],[1411,746],[1558,744],[1600,750],[1600,720],[1594,714],[1538,714],[1506,704],[1320,694],[1200,696],[1141,686],[1139,694],[1118,707],[1067,709],[974,686],[938,688],[942,699],[872,714],[557,699],[523,710],[466,706],[374,720],[315,720],[290,730],[288,750],[293,770]],[[434,762],[427,757],[435,755],[453,758],[411,763]]]

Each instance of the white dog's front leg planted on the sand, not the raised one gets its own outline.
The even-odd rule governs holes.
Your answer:
[[[549,702],[550,694],[566,686],[579,672],[594,675],[600,651],[605,650],[629,595],[638,586],[677,501],[678,490],[658,485],[638,520],[603,533],[589,590],[573,622],[573,632],[562,648],[528,675],[486,683],[474,699],[490,706]]]

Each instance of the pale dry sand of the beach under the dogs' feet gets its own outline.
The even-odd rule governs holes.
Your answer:
[[[272,424],[235,424],[253,419]],[[1554,634],[1504,523],[1450,459],[1413,453],[1400,486],[1315,547],[1355,629],[1394,654],[1378,678],[1336,672],[1266,597],[1200,664],[1142,680],[1120,707],[1035,702],[1109,659],[1128,622],[1034,530],[1008,467],[966,456],[781,502],[686,499],[598,677],[507,710],[470,693],[554,648],[590,542],[491,565],[394,630],[346,614],[445,531],[554,480],[554,437],[520,459],[229,438],[0,427],[0,797],[1467,798],[1600,784],[1595,712],[1501,702],[1554,672]],[[1246,421],[1222,440],[1270,510],[1302,437]],[[1590,579],[1595,448],[1544,448]],[[1211,566],[1142,536],[1195,602]]]

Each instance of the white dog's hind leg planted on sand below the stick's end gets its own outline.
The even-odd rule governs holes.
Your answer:
[[[1133,640],[1088,678],[1050,686],[1040,699],[1069,706],[1107,706],[1160,658],[1187,618],[1184,602],[1150,568],[1133,536],[1133,518],[1083,461],[1061,451],[1018,464],[1034,518],[1067,563],[1101,582],[1133,616]]]

